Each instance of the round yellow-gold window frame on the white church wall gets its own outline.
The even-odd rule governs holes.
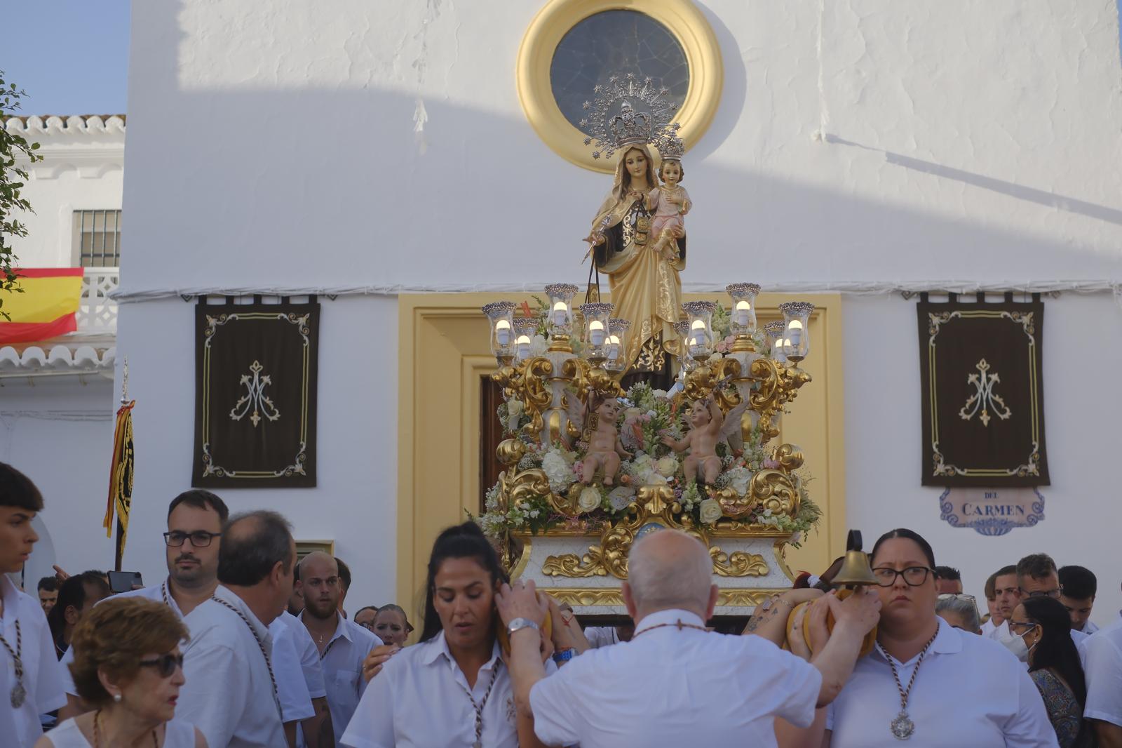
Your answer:
[[[690,0],[550,0],[531,21],[518,48],[518,100],[526,119],[562,158],[595,172],[613,172],[607,158],[592,158],[583,133],[561,113],[553,98],[550,67],[553,53],[573,26],[606,10],[634,10],[665,26],[686,52],[690,84],[675,121],[689,149],[712,122],[720,104],[725,69],[709,21]]]

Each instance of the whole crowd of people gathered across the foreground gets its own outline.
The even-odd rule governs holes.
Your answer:
[[[168,507],[159,584],[110,594],[59,569],[36,601],[7,574],[42,509],[0,464],[3,746],[1122,746],[1122,618],[1096,630],[1095,576],[1043,554],[997,569],[980,617],[960,575],[893,530],[875,585],[839,593],[835,563],[733,636],[707,628],[707,549],[664,530],[632,547],[632,623],[582,628],[466,522],[433,545],[406,646],[402,608],[346,614],[340,559],[297,560],[283,517],[230,517],[201,490]]]

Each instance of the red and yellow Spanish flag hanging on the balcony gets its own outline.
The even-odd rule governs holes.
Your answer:
[[[46,340],[77,329],[74,318],[82,298],[81,267],[21,267],[16,271],[19,291],[2,294],[0,346]]]

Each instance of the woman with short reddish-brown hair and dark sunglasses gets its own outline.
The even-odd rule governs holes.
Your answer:
[[[71,640],[71,673],[94,711],[59,723],[35,748],[206,748],[201,732],[174,719],[186,638],[157,602],[109,599],[88,612]]]

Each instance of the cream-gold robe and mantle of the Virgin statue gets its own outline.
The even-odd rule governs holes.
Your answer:
[[[641,150],[647,161],[649,189],[632,198],[631,174],[624,167],[627,152]],[[681,340],[674,322],[682,319],[682,281],[686,270],[686,237],[678,239],[674,259],[666,261],[654,244],[651,211],[645,193],[657,186],[653,162],[643,146],[631,146],[619,156],[615,184],[592,221],[592,232],[605,240],[595,246],[594,262],[608,276],[613,317],[631,320],[627,331],[628,368],[660,371],[669,365],[665,354],[679,356]],[[673,248],[674,245],[671,245]]]

